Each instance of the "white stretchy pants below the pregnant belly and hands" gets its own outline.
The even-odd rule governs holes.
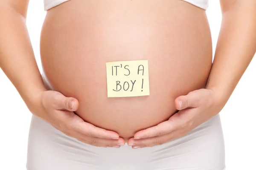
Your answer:
[[[27,170],[224,170],[219,115],[163,145],[132,149],[95,147],[32,116]]]

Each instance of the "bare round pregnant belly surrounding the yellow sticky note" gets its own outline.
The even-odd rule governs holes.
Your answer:
[[[148,60],[149,96],[108,97],[106,62]],[[176,112],[212,64],[205,11],[180,0],[70,0],[41,31],[44,79],[79,100],[76,114],[125,139]]]

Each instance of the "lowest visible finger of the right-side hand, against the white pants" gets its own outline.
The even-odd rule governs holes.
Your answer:
[[[130,139],[128,140],[128,145],[132,146],[133,149],[138,149],[143,147],[152,147],[156,145],[165,144],[183,135],[184,133],[182,131],[175,130],[172,133],[168,133],[163,136],[155,136],[152,138],[145,138],[145,139],[139,139],[139,140]],[[133,145],[131,145],[131,143]]]

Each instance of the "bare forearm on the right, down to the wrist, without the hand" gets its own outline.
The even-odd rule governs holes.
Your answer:
[[[222,15],[207,88],[220,96],[219,100],[223,105],[230,98],[256,52],[255,4],[237,3]]]

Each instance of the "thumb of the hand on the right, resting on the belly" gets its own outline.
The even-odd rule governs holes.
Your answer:
[[[177,110],[183,110],[186,108],[199,107],[200,96],[197,91],[189,92],[185,96],[179,96],[175,99],[175,108]]]

